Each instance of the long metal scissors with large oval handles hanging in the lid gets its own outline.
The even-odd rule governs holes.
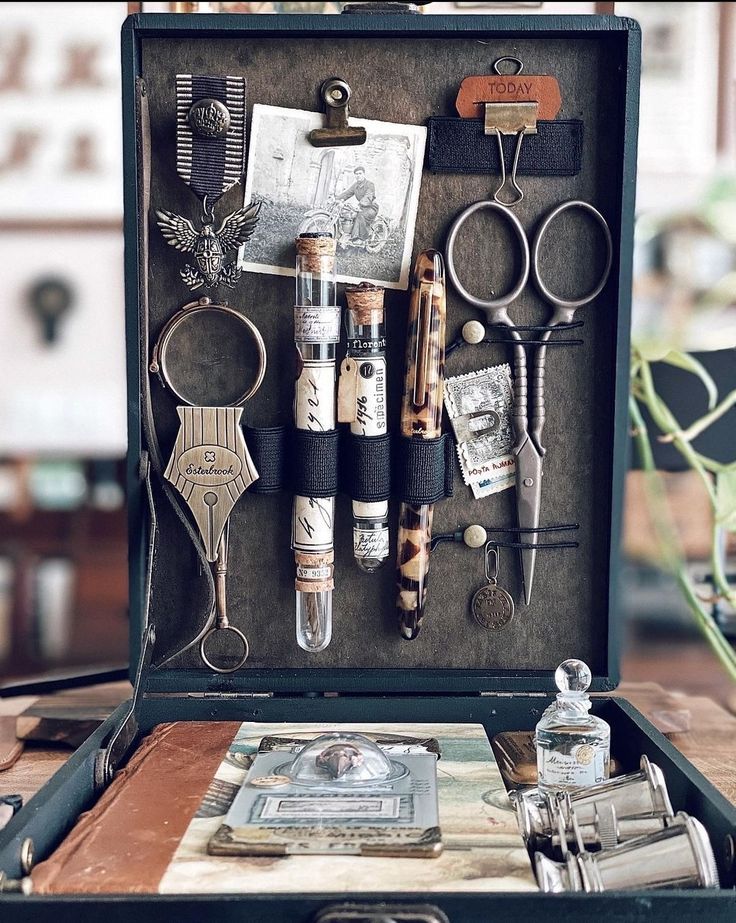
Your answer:
[[[505,295],[493,299],[478,298],[468,292],[460,282],[455,268],[455,243],[460,229],[471,215],[486,209],[497,212],[509,222],[521,251],[521,271],[515,285]],[[605,266],[597,283],[587,294],[574,299],[562,298],[551,291],[542,279],[540,260],[542,242],[550,225],[563,212],[570,209],[581,209],[587,212],[603,232],[606,245]],[[537,549],[535,547],[537,543],[536,530],[539,527],[543,460],[546,452],[542,444],[542,430],[545,420],[544,371],[547,353],[546,344],[554,327],[571,324],[575,311],[583,307],[583,305],[589,304],[600,295],[608,281],[612,263],[613,240],[605,218],[589,202],[583,202],[579,199],[562,202],[549,212],[539,225],[531,248],[526,231],[516,215],[505,205],[490,200],[475,202],[468,206],[453,222],[447,238],[447,272],[456,290],[466,301],[485,312],[489,324],[507,327],[513,341],[513,426],[515,439],[513,452],[516,456],[516,510],[520,534],[528,545],[528,547],[521,550],[521,574],[524,585],[524,600],[527,605],[531,602],[532,585],[534,583],[534,567],[537,558]],[[538,333],[539,345],[531,367],[531,381],[529,381],[526,351],[521,333],[508,313],[509,305],[519,297],[526,287],[530,272],[539,294],[552,307],[550,320]]]

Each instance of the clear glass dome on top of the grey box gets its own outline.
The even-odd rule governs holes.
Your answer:
[[[352,788],[391,784],[404,778],[408,769],[369,738],[347,732],[322,734],[275,772],[294,785]]]

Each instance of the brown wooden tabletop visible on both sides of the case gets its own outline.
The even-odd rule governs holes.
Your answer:
[[[95,688],[95,687],[93,687]],[[130,696],[128,683],[97,687],[111,703]],[[79,690],[80,698],[93,698]],[[672,743],[736,804],[736,717],[711,699],[667,692],[656,683],[624,683],[616,693],[639,709]],[[68,695],[68,693],[65,693]],[[0,699],[0,715],[20,714],[35,697]],[[27,801],[71,755],[63,746],[28,744],[18,762],[0,772],[0,794],[19,794]]]

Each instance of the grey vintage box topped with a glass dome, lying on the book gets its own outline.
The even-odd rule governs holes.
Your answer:
[[[434,738],[311,728],[262,738],[210,855],[442,852]]]

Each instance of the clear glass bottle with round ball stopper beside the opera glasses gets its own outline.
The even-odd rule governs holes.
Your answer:
[[[540,791],[569,791],[608,778],[611,728],[590,714],[591,679],[582,660],[565,660],[555,671],[560,691],[536,729]]]

